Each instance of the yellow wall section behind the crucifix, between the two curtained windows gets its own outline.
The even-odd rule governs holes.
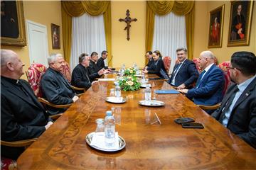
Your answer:
[[[145,38],[146,38],[146,1],[111,1],[112,11],[112,67],[132,66],[136,62],[139,67],[144,67]],[[131,18],[138,21],[131,23],[130,40],[126,23],[119,22],[119,18],[126,17],[129,9]]]

